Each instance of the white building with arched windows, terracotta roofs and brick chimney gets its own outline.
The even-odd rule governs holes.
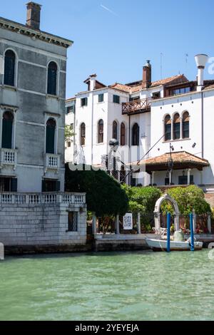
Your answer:
[[[144,172],[135,173],[134,182],[132,178],[126,182],[195,184],[214,192],[214,81],[201,85],[179,75],[152,82],[148,61],[143,81],[104,86],[93,75],[86,83],[88,91],[71,99],[75,113],[69,113],[71,100],[66,101],[66,123],[73,123],[76,133],[66,151],[68,161],[101,165],[101,156],[110,150],[109,140],[116,138],[120,144],[116,156],[124,163],[138,167],[143,158],[139,168]],[[100,131],[103,141],[99,141]],[[121,157],[123,151],[126,154]]]

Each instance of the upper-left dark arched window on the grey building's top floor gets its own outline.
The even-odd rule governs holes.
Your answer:
[[[6,51],[4,56],[4,85],[15,86],[15,63],[14,51]]]

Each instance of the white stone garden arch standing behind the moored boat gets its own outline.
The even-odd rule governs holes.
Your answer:
[[[180,217],[180,211],[178,208],[178,203],[173,199],[173,197],[170,197],[170,195],[165,194],[163,197],[160,197],[155,206],[154,215],[155,215],[155,225],[156,225],[156,234],[161,233],[161,205],[163,202],[167,200],[169,201],[173,207],[174,207],[174,213],[175,213],[175,230],[179,230],[179,217]]]

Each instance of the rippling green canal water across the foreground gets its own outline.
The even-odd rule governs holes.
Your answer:
[[[214,320],[203,252],[7,257],[0,320]]]

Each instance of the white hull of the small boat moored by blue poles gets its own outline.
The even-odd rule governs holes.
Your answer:
[[[153,251],[161,252],[167,250],[167,241],[163,239],[146,239],[148,247]],[[189,242],[174,242],[170,241],[170,251],[190,251]],[[203,242],[195,242],[195,251],[203,249]]]

